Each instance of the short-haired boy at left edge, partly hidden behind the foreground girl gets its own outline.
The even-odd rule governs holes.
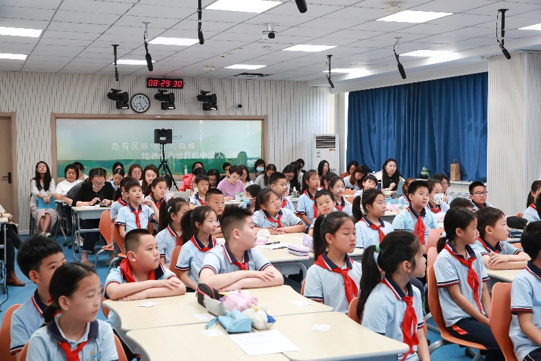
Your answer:
[[[49,283],[56,268],[66,263],[60,244],[37,235],[21,244],[17,264],[30,281],[36,283],[36,292],[13,312],[10,329],[10,354],[19,360],[19,353],[30,336],[45,322],[43,311],[51,304]]]

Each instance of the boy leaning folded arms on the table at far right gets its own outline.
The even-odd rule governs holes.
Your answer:
[[[477,231],[479,237],[472,248],[481,253],[486,268],[510,270],[526,266],[530,257],[507,242],[509,227],[503,211],[494,207],[479,209]]]

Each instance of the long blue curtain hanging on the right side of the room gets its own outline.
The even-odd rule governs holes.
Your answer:
[[[462,75],[349,94],[347,160],[381,170],[394,158],[405,177],[487,179],[488,73]]]

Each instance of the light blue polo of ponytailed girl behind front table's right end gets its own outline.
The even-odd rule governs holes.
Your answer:
[[[306,272],[306,281],[304,283],[304,296],[313,301],[324,303],[333,307],[335,312],[348,314],[348,296],[346,296],[346,286],[344,286],[344,277],[337,272],[332,272],[331,269],[338,266],[331,261],[326,253],[322,255],[324,263],[328,268],[323,268],[313,264]],[[361,264],[352,261],[346,255],[346,264],[341,269],[348,270],[348,275],[359,288],[361,282]],[[355,295],[357,296],[357,295]]]

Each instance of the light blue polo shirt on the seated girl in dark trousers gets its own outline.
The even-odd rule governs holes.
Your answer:
[[[455,246],[448,241],[447,245],[451,251],[458,257],[464,258],[463,255],[459,255],[455,249]],[[483,263],[483,257],[480,253],[475,252],[470,245],[466,245],[466,251],[468,252],[468,259],[475,257],[472,263],[472,268],[477,277],[479,278],[479,303],[481,303],[481,294],[483,294],[483,282],[489,280],[485,264]],[[458,259],[449,253],[444,248],[439,255],[437,255],[434,272],[437,281],[437,294],[440,296],[440,305],[442,305],[442,314],[444,316],[446,327],[455,325],[458,321],[465,317],[471,317],[468,312],[462,310],[462,308],[453,301],[447,290],[448,286],[459,285],[461,294],[477,308],[477,303],[474,299],[474,292],[470,285],[468,285],[468,267],[461,264]],[[483,304],[481,303],[481,312],[486,314]]]

